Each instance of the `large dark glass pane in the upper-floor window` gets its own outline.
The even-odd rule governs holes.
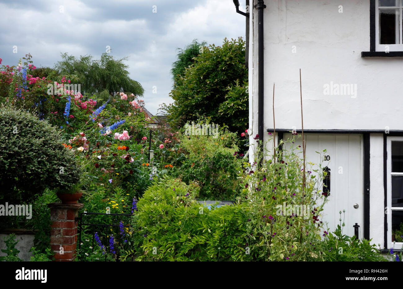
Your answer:
[[[379,44],[399,44],[399,9],[379,10]]]

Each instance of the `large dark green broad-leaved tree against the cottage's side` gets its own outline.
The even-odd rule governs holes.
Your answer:
[[[204,116],[240,134],[248,126],[247,80],[241,37],[224,39],[222,46],[205,47],[178,76],[170,93],[174,103],[165,110],[171,126],[183,127]]]

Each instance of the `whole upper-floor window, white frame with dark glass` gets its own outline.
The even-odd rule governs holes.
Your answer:
[[[376,0],[376,51],[403,51],[403,0]]]

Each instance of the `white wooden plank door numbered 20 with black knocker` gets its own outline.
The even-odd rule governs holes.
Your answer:
[[[355,223],[359,225],[359,238],[364,232],[363,209],[363,147],[361,134],[304,134],[306,137],[306,160],[318,164],[320,152],[326,149],[326,159],[322,159],[322,167],[330,168],[330,195],[324,206],[322,216],[324,223],[328,223],[330,232],[337,225],[345,223],[343,234],[353,236]],[[284,134],[283,139],[291,138],[291,134]],[[295,144],[301,145],[302,139],[297,138]],[[287,145],[285,146],[287,147]],[[312,172],[314,173],[314,172]],[[322,184],[320,185],[322,188]],[[358,205],[357,208],[354,207]],[[343,210],[345,216],[343,217]]]

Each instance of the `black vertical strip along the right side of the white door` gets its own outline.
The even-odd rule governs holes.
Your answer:
[[[364,134],[364,238],[370,239],[370,134]]]

